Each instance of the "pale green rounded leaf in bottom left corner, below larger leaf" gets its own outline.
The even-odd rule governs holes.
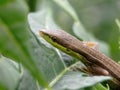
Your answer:
[[[17,63],[5,57],[0,58],[0,84],[7,90],[16,89],[21,78],[21,73],[18,69]]]

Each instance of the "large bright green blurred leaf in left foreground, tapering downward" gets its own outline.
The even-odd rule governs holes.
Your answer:
[[[33,44],[27,26],[27,12],[28,7],[23,0],[14,0],[0,6],[0,52],[22,63],[41,86],[49,88],[42,71],[35,63],[36,57],[33,55]]]

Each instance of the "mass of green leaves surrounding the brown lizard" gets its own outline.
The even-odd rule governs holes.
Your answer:
[[[112,0],[88,2],[89,0],[0,0],[0,90],[109,90],[100,82],[110,77],[89,76],[80,71],[71,71],[71,67],[81,63],[39,36],[41,29],[64,29],[81,40],[100,43],[103,53],[109,56],[111,53],[111,57],[118,60],[119,34],[116,34],[117,31],[114,33],[114,28],[117,27],[113,18],[115,12],[109,18],[103,15],[105,20],[103,16],[94,19],[94,13],[101,11],[99,4],[108,7],[115,3]],[[34,13],[28,14],[28,9]],[[97,9],[96,12],[94,9]],[[112,9],[114,11],[115,8],[109,10]],[[93,14],[84,16],[85,12],[90,11],[94,11]],[[100,12],[99,14],[101,15]],[[99,18],[103,21],[99,22]],[[114,19],[111,21],[113,24],[108,23],[111,19]],[[111,25],[114,28],[110,28]],[[109,33],[107,39],[102,37],[105,36],[104,32]],[[113,41],[114,38],[116,40]],[[66,60],[75,62],[67,66]]]

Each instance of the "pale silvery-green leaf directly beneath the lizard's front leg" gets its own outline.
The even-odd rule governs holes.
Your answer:
[[[95,85],[100,81],[110,79],[105,76],[84,76],[81,72],[68,72],[66,73],[55,85],[54,89],[57,90],[79,90],[81,88]],[[104,90],[104,89],[103,89]]]

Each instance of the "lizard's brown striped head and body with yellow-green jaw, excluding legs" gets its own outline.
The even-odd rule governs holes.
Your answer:
[[[92,63],[107,70],[113,78],[120,82],[120,65],[100,51],[84,45],[82,41],[63,30],[42,30],[40,35],[53,46],[59,49],[64,48],[61,50],[67,54],[75,53],[75,57],[86,58],[82,60],[84,64]],[[65,49],[72,53],[65,51]]]

